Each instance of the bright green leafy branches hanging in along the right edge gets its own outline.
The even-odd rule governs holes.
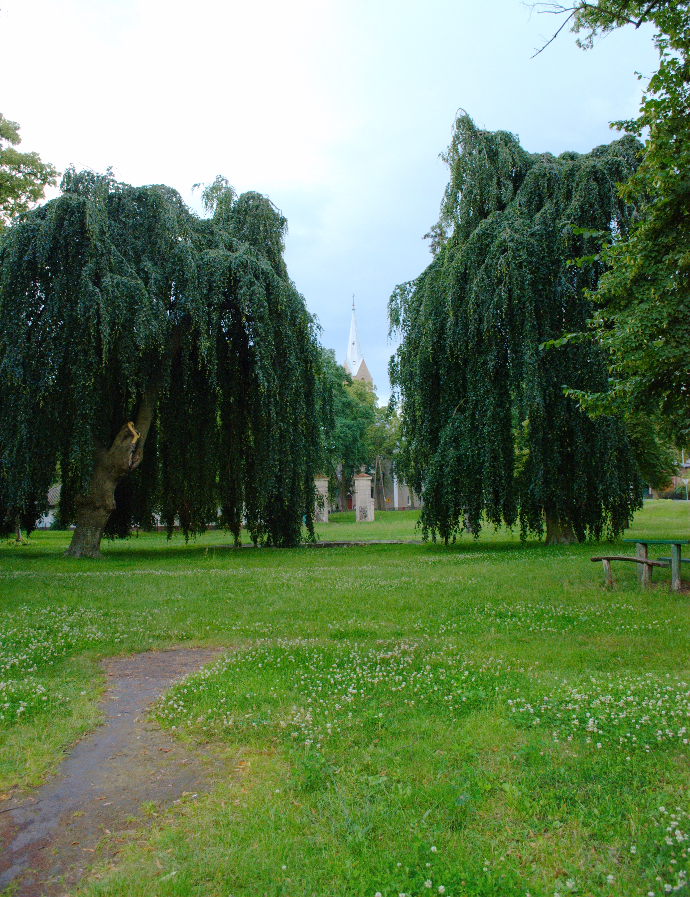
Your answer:
[[[639,118],[618,129],[648,134],[642,163],[619,187],[636,210],[635,226],[609,237],[608,270],[590,300],[593,336],[608,354],[610,383],[601,392],[571,389],[592,414],[643,415],[663,422],[680,445],[690,434],[690,4],[537,4],[565,13],[590,48],[598,34],[651,22],[659,71],[642,97]],[[559,29],[559,30],[561,30]]]

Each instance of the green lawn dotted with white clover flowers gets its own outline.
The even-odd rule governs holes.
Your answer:
[[[318,533],[414,539],[415,518]],[[690,506],[647,503],[637,535],[690,538]],[[690,893],[690,594],[668,570],[642,592],[614,565],[607,591],[601,545],[488,531],[293,551],[142,535],[100,562],[63,559],[67,539],[0,547],[0,789],[94,725],[100,656],[150,647],[229,649],[155,715],[245,761],[104,836],[122,852],[88,893]]]

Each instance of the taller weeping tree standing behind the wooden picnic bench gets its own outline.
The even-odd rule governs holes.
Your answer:
[[[633,209],[616,183],[640,149],[624,136],[556,158],[457,119],[441,220],[427,235],[432,264],[389,302],[402,337],[389,368],[397,464],[424,496],[425,536],[478,534],[483,515],[519,520],[523,537],[546,522],[547,543],[615,536],[641,506],[623,423],[592,421],[563,395],[563,385],[605,389],[605,357],[589,342],[540,351],[592,316],[583,288],[596,287],[601,263],[569,260],[597,251],[581,229],[628,230]]]

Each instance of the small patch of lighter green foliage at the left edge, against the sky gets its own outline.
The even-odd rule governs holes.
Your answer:
[[[57,184],[57,170],[38,152],[19,152],[19,125],[0,113],[0,231],[14,215],[28,212]]]

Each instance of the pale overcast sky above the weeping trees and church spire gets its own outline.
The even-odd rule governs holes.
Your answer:
[[[636,113],[651,31],[588,52],[520,0],[3,0],[0,111],[22,150],[188,203],[223,174],[289,222],[287,264],[345,358],[351,296],[380,399],[390,292],[431,260],[460,107],[531,152],[589,151]]]

